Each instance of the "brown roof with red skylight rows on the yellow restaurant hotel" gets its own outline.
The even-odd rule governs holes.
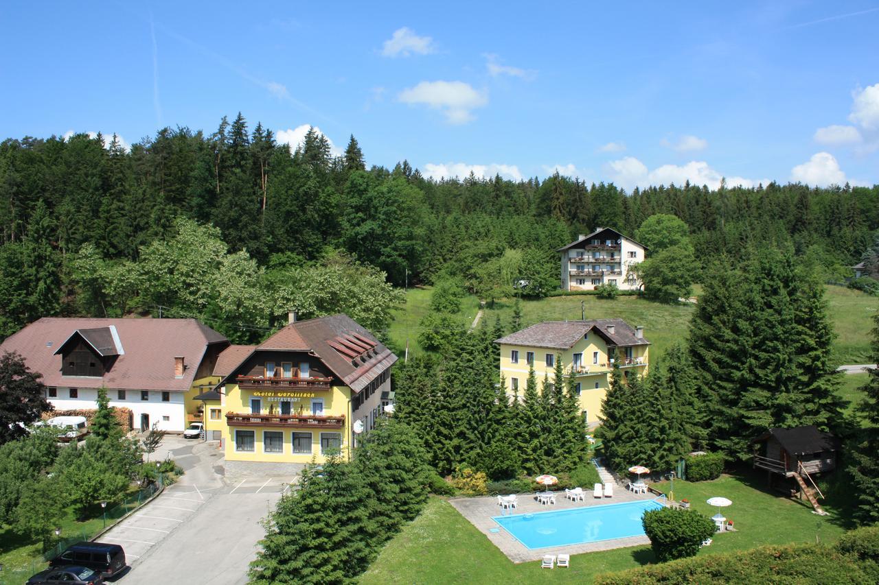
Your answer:
[[[397,360],[391,350],[346,314],[290,323],[253,352],[260,350],[309,351],[354,392],[360,392]],[[237,365],[247,357],[243,356]]]

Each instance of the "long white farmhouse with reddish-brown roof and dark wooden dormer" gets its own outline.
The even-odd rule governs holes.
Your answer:
[[[131,427],[182,432],[200,408],[196,394],[219,379],[214,364],[226,337],[194,319],[44,317],[0,344],[42,374],[56,410],[97,408],[106,387],[113,407],[128,408]]]

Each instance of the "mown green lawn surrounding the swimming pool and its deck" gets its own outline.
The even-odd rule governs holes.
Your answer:
[[[722,495],[733,503],[724,510],[737,532],[718,535],[700,554],[743,550],[757,545],[822,542],[839,538],[843,529],[831,507],[829,516],[816,516],[808,506],[763,490],[761,473],[723,476],[714,481],[675,481],[675,496],[686,497],[695,509],[714,515],[704,503]],[[667,488],[659,484],[660,488]],[[570,569],[544,571],[540,562],[515,565],[488,538],[458,514],[448,502],[432,498],[418,518],[384,547],[360,582],[378,583],[498,583],[590,582],[596,574],[650,563],[648,546],[621,548],[574,556]]]

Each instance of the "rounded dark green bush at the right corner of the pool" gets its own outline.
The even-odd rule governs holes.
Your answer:
[[[716,531],[711,518],[686,509],[648,510],[641,522],[659,562],[694,556]]]

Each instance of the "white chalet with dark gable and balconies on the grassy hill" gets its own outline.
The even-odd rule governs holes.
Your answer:
[[[641,281],[630,269],[643,262],[645,248],[610,227],[579,235],[575,242],[556,251],[562,259],[562,290],[592,291],[599,285],[616,285],[636,291]]]

